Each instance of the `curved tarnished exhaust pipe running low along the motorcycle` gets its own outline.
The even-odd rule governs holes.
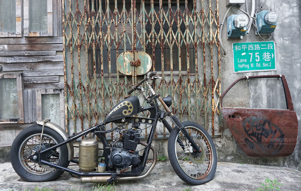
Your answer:
[[[143,146],[147,146],[146,142],[140,141],[139,144],[143,145]],[[149,167],[149,169],[146,171],[146,173],[144,173],[143,175],[140,176],[135,176],[135,177],[116,177],[116,181],[119,180],[139,180],[139,179],[143,179],[145,177],[147,177],[151,171],[154,169],[156,163],[157,163],[157,151],[156,149],[151,146],[151,150],[153,151],[154,154],[154,161],[151,164],[151,167]],[[81,177],[81,182],[82,183],[107,183],[107,180],[110,179],[111,176],[99,176],[99,177]]]

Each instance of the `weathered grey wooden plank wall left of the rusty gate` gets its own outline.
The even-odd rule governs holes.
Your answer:
[[[0,148],[10,146],[21,129],[42,119],[42,95],[59,94],[64,127],[62,1],[52,1],[52,37],[0,37],[0,75],[22,74],[24,122],[0,123]],[[2,68],[2,70],[1,70]],[[1,100],[0,100],[1,102]],[[45,109],[45,108],[44,108]]]

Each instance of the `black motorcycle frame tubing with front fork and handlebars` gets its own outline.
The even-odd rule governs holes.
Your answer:
[[[149,77],[144,78],[136,86],[133,86],[133,88],[128,92],[128,94],[131,94],[134,90],[139,89],[138,85],[140,86],[144,81],[147,82],[148,78]],[[153,79],[153,80],[155,80],[155,79]],[[150,86],[150,84],[148,82],[147,82],[147,84]],[[147,142],[146,142],[147,146],[144,148],[144,152],[143,152],[143,155],[141,157],[142,160],[137,165],[137,167],[132,168],[131,172],[123,172],[123,173],[117,173],[117,172],[107,172],[107,173],[100,173],[100,172],[79,172],[79,171],[75,171],[75,170],[72,170],[72,169],[69,169],[69,168],[66,168],[66,167],[62,167],[62,166],[59,166],[59,165],[47,162],[45,160],[42,160],[43,155],[49,153],[49,151],[54,150],[54,149],[56,149],[56,148],[58,148],[58,147],[60,147],[62,145],[67,144],[67,143],[70,143],[70,142],[76,140],[77,138],[80,138],[82,136],[87,135],[88,133],[93,133],[93,137],[94,137],[94,135],[96,135],[101,140],[101,142],[104,144],[104,148],[109,147],[109,144],[108,144],[108,142],[107,142],[107,140],[105,138],[105,133],[112,132],[115,129],[113,128],[113,129],[110,129],[110,130],[106,131],[105,130],[105,125],[106,125],[105,122],[99,123],[98,125],[93,126],[93,127],[89,128],[89,129],[86,129],[86,130],[84,130],[82,132],[79,132],[77,134],[73,134],[73,135],[69,136],[69,139],[66,140],[66,141],[64,141],[64,142],[61,142],[61,143],[56,144],[56,145],[54,145],[52,147],[49,147],[49,148],[47,148],[45,150],[39,151],[39,152],[37,152],[35,154],[32,154],[31,156],[29,156],[29,159],[32,160],[32,161],[34,161],[34,162],[36,162],[36,163],[38,163],[38,164],[43,164],[43,165],[47,165],[47,166],[50,166],[50,167],[54,167],[54,168],[57,168],[57,169],[64,170],[64,171],[72,173],[72,174],[74,174],[74,175],[76,175],[78,177],[116,176],[116,175],[118,175],[119,177],[138,176],[139,174],[141,174],[143,172],[143,170],[145,168],[145,165],[146,165],[146,162],[147,162],[147,158],[148,158],[148,154],[149,154],[149,151],[150,151],[150,148],[151,148],[151,143],[152,143],[152,141],[154,139],[157,122],[159,120],[160,121],[165,120],[164,121],[165,123],[163,122],[163,124],[165,126],[167,126],[167,129],[168,129],[169,132],[171,132],[171,130],[172,130],[172,127],[169,124],[166,124],[167,121],[166,121],[166,119],[164,119],[166,116],[168,116],[168,115],[171,114],[171,112],[168,110],[168,107],[166,106],[166,104],[165,104],[165,106],[163,104],[163,107],[165,108],[166,112],[164,112],[164,110],[163,111],[160,110],[160,107],[159,107],[159,104],[158,104],[158,101],[157,101],[157,98],[160,98],[160,94],[158,94],[158,95],[157,94],[153,94],[153,95],[151,95],[150,97],[147,98],[145,96],[145,93],[144,93],[143,89],[142,89],[142,93],[144,94],[144,98],[148,99],[148,103],[150,104],[150,107],[145,107],[145,108],[141,107],[140,112],[142,112],[142,111],[149,111],[151,115],[150,115],[150,118],[140,118],[140,119],[145,119],[146,122],[149,119],[151,119],[153,123],[152,124],[150,124],[150,123],[142,123],[140,120],[137,123],[134,122],[135,124],[139,124],[139,125],[141,123],[142,124],[149,124],[149,125],[152,125],[152,127],[151,127],[151,130],[150,130],[148,138],[147,138]],[[160,101],[160,102],[163,103],[163,100]],[[138,117],[126,117],[125,119],[131,119],[131,118],[134,119],[134,118],[138,118]],[[179,128],[185,134],[185,137],[191,142],[191,145],[194,148],[194,152],[195,153],[199,153],[200,149],[198,148],[198,146],[196,145],[196,143],[194,142],[194,140],[191,138],[191,136],[188,134],[188,132],[185,130],[185,128],[184,127],[180,127],[177,124],[177,122],[175,121],[175,120],[178,120],[178,119],[177,118],[172,118],[172,119],[173,119],[173,123],[175,124],[175,127]],[[121,121],[121,119],[117,119],[116,121],[113,121],[112,123],[115,123],[115,122],[118,122],[118,121]],[[182,143],[182,141],[180,139],[178,139],[177,142],[180,145],[182,145],[181,147],[184,150],[184,146],[185,145]],[[105,153],[105,150],[104,150],[104,153]],[[105,160],[107,160],[107,157],[106,156],[104,156],[104,157],[105,157]],[[74,160],[74,159],[71,160],[71,162],[74,162],[74,163],[77,163],[77,164],[79,163],[79,161]]]

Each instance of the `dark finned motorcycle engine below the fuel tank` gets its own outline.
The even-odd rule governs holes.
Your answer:
[[[117,168],[128,168],[130,165],[135,165],[140,162],[139,153],[134,153],[140,135],[137,130],[129,130],[125,133],[123,144],[117,144],[112,148],[111,154],[108,156],[109,167],[113,165]]]

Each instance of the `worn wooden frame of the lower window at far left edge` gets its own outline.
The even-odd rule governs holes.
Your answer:
[[[17,105],[18,117],[11,119],[0,119],[1,123],[24,123],[24,108],[23,108],[23,73],[0,74],[0,79],[16,78],[17,79]]]

